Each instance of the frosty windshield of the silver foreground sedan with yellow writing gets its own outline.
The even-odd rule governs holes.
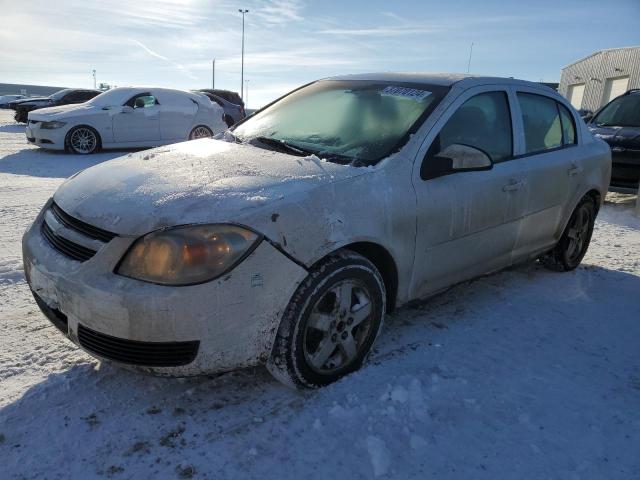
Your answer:
[[[275,140],[328,159],[372,165],[402,147],[447,91],[422,84],[323,80],[267,107],[233,134],[240,141]]]

